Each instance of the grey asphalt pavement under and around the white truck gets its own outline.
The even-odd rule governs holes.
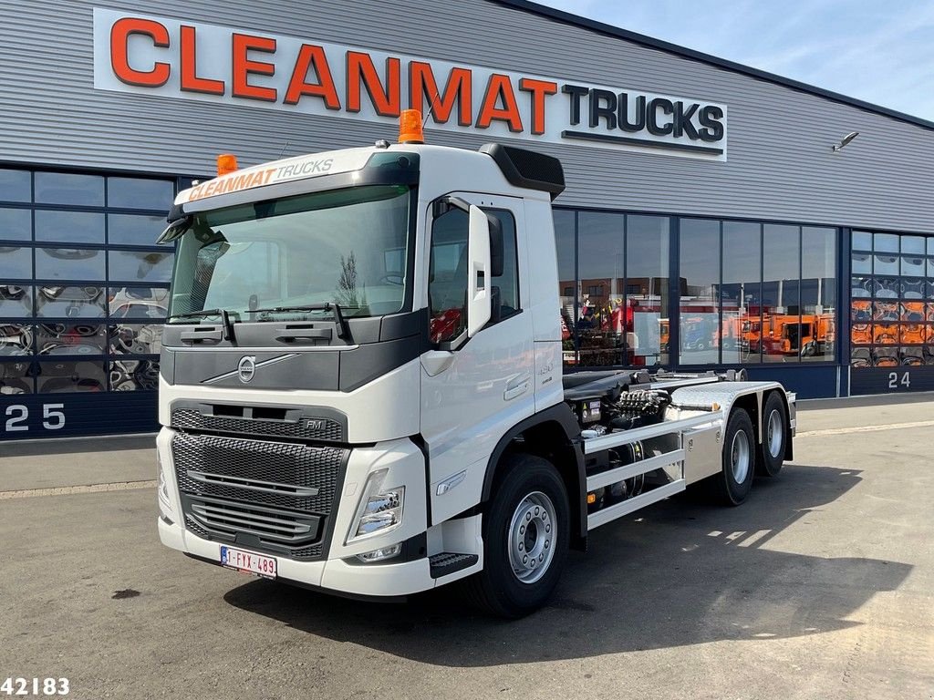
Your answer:
[[[456,591],[360,603],[163,548],[150,436],[0,443],[0,683],[134,700],[930,700],[934,400],[802,402],[799,431],[795,460],[740,508],[673,498],[598,529],[551,605],[517,622]]]

